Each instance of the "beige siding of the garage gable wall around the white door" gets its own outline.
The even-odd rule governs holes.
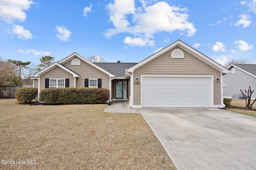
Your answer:
[[[156,59],[140,66],[134,70],[134,82],[136,82],[136,77],[139,78],[140,75],[206,75],[214,76],[220,78],[220,71],[216,70],[212,66],[204,63],[198,58],[194,57],[190,53],[181,49],[184,53],[184,59],[171,58],[171,53],[174,49],[181,49],[179,47],[174,47],[170,51],[160,55]],[[134,105],[141,105],[140,103],[140,85],[134,86]],[[221,104],[221,86],[222,82],[214,81],[214,105]]]

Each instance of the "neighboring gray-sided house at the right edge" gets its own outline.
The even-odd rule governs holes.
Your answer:
[[[231,98],[233,94],[241,94],[240,89],[255,90],[252,98],[256,98],[256,64],[231,64],[229,73],[223,76],[223,95]]]

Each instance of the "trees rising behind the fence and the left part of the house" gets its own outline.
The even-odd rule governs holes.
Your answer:
[[[104,59],[98,56],[90,56],[87,59],[93,63],[104,62]],[[54,57],[51,56],[41,57],[38,65],[30,61],[4,60],[0,57],[0,86],[32,85],[31,76],[53,63]]]

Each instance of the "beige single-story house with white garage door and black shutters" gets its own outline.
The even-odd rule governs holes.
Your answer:
[[[228,70],[178,40],[139,63],[92,63],[73,53],[34,74],[43,88],[92,87],[110,90],[109,102],[132,108],[222,107],[222,76]]]

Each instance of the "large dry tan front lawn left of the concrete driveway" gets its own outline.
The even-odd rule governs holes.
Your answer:
[[[0,169],[175,169],[142,115],[106,107],[0,99]]]

